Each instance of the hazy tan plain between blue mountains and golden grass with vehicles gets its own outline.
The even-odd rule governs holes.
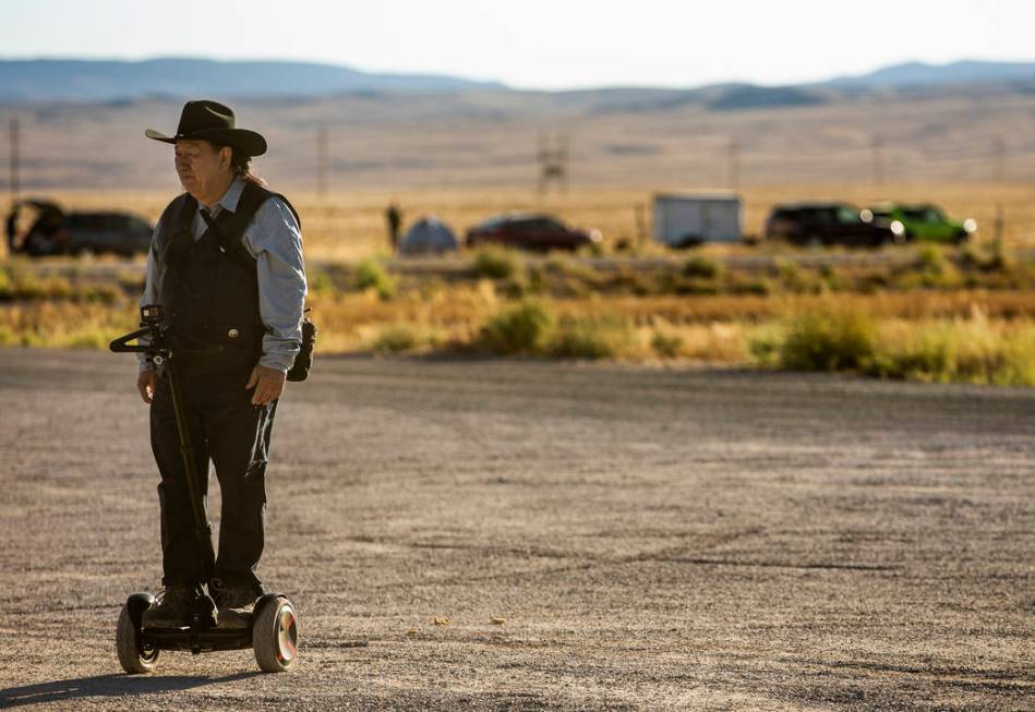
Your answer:
[[[731,142],[743,185],[865,183],[875,173],[889,184],[1035,180],[1035,96],[1003,89],[741,111],[635,90],[228,101],[240,125],[269,140],[260,170],[296,193],[316,186],[320,126],[332,191],[531,189],[542,132],[569,138],[576,188],[727,185]],[[172,190],[169,147],[143,131],[171,131],[181,106],[0,106],[0,121],[20,118],[27,186]]]

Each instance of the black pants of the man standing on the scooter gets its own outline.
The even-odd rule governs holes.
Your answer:
[[[277,401],[252,406],[253,389],[244,389],[250,371],[183,374],[180,390],[206,510],[209,460],[222,496],[216,578],[262,593],[255,569],[265,539],[266,461]],[[167,377],[159,378],[151,406],[151,446],[161,473],[163,584],[195,584],[203,578],[202,554]]]

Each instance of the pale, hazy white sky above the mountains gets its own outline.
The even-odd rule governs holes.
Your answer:
[[[0,19],[3,58],[292,59],[535,88],[1035,59],[1032,0],[0,0]]]

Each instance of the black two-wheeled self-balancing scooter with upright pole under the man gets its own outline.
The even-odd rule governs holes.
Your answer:
[[[218,595],[219,589],[215,578],[216,553],[212,543],[212,524],[208,522],[208,512],[201,494],[197,468],[194,466],[190,434],[183,415],[183,394],[180,389],[176,353],[166,338],[166,330],[161,305],[142,306],[141,328],[113,340],[110,348],[117,353],[143,353],[159,375],[164,374],[169,379],[180,452],[183,456],[188,492],[194,510],[194,532],[203,559],[201,583],[207,593],[198,596],[191,624],[178,628],[144,628],[144,612],[155,605],[157,599],[148,592],[130,595],[119,614],[116,629],[119,663],[127,673],[149,673],[155,669],[158,653],[163,650],[189,650],[196,655],[217,650],[251,648],[263,672],[289,671],[298,662],[298,620],[294,604],[286,595],[266,593],[260,598],[255,602],[250,628],[219,628],[212,625],[216,610],[212,594]],[[130,341],[133,340],[136,340],[136,345],[131,346]]]

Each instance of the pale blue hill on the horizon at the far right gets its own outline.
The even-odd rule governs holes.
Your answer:
[[[1035,80],[1035,62],[960,61],[951,64],[908,62],[859,76],[841,76],[820,84],[834,88],[911,88],[1016,80]]]

